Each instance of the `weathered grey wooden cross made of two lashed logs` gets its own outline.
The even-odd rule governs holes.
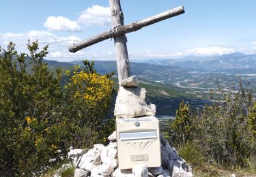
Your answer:
[[[105,31],[104,33],[100,33],[83,42],[80,42],[79,44],[69,46],[68,49],[70,50],[70,52],[76,52],[98,42],[101,42],[105,39],[114,38],[115,51],[117,54],[118,81],[121,82],[122,80],[130,77],[130,62],[128,59],[128,51],[126,46],[127,39],[125,34],[132,31],[137,31],[138,29],[141,29],[148,25],[152,25],[161,20],[183,14],[185,11],[184,7],[180,6],[171,10],[167,10],[166,12],[162,12],[155,16],[145,18],[144,20],[139,20],[137,22],[132,22],[129,25],[124,25],[124,14],[121,9],[120,0],[109,0],[109,6],[111,9],[111,20],[113,29]]]

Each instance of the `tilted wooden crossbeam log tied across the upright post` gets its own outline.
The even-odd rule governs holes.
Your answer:
[[[130,33],[132,31],[137,31],[143,27],[146,27],[148,25],[152,25],[156,22],[159,22],[161,20],[165,20],[167,18],[171,18],[173,16],[178,16],[180,14],[183,14],[184,11],[184,7],[180,6],[180,7],[176,7],[174,9],[171,10],[167,10],[166,12],[162,12],[160,14],[157,14],[155,16],[151,16],[149,18],[145,18],[144,20],[139,20],[137,22],[133,22],[129,25],[122,25],[121,27],[116,27],[113,30],[110,31],[106,31],[104,33],[100,33],[99,35],[96,35],[94,37],[91,37],[83,42],[80,42],[78,44],[74,44],[72,46],[69,46],[68,50],[70,50],[70,52],[77,52],[83,48],[86,48],[88,46],[91,46],[93,44],[96,44],[98,42],[101,42],[105,39],[109,39],[111,37],[117,37],[117,36],[122,36],[126,33]]]

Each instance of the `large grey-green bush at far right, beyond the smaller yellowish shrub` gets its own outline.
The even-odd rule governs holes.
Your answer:
[[[193,136],[208,152],[210,161],[245,165],[245,159],[255,150],[248,128],[251,105],[251,93],[240,87],[240,91],[222,92],[221,100],[205,106],[195,118]]]

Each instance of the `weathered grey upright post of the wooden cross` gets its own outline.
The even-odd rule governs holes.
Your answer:
[[[124,25],[124,14],[119,0],[109,0],[109,7],[111,10],[111,20],[113,29]],[[118,81],[130,77],[130,62],[128,58],[128,51],[126,46],[125,34],[114,37],[115,41],[115,52],[117,55],[117,76]]]

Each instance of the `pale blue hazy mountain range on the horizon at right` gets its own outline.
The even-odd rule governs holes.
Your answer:
[[[240,52],[211,57],[184,57],[181,59],[150,59],[145,63],[177,66],[186,70],[214,71],[227,74],[256,74],[256,54]]]

